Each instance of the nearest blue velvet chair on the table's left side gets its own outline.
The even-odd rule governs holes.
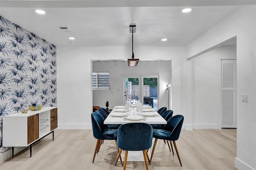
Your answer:
[[[115,140],[116,148],[118,152],[119,152],[119,148],[117,146],[117,130],[110,129],[106,125],[104,125],[104,119],[99,113],[93,112],[91,114],[91,117],[92,117],[93,136],[94,138],[97,139],[94,156],[92,160],[92,163],[93,163],[96,153],[98,153],[98,151],[100,150],[100,145],[103,140]],[[118,158],[120,158],[121,164],[123,164],[121,156]]]

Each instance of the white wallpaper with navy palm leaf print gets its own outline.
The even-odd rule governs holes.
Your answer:
[[[57,106],[56,46],[0,16],[0,154],[2,116],[29,105]]]

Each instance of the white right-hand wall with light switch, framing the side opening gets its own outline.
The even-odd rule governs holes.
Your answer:
[[[237,36],[237,157],[239,170],[256,169],[256,6],[242,6],[222,22],[202,34],[187,46],[187,58]],[[191,70],[191,61],[186,67]],[[186,72],[187,83],[192,75]],[[188,84],[189,86],[189,84]],[[188,87],[187,89],[190,89]],[[248,94],[248,103],[241,102],[241,94]],[[191,94],[189,94],[191,95]],[[192,97],[186,96],[187,109]],[[189,111],[189,110],[187,110]],[[188,113],[188,117],[192,117]]]

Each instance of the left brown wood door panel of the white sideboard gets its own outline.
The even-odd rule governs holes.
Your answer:
[[[28,144],[39,138],[39,114],[28,117]]]

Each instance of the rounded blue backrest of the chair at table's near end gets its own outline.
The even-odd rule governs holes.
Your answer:
[[[117,146],[123,150],[147,150],[152,146],[153,129],[147,123],[127,123],[118,128]]]

